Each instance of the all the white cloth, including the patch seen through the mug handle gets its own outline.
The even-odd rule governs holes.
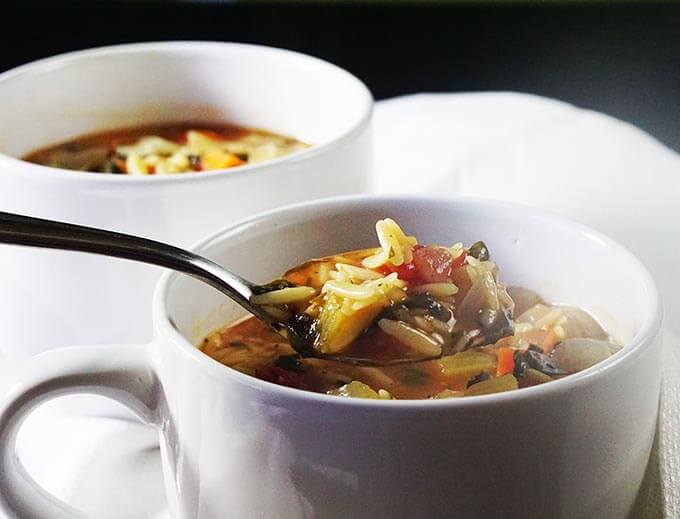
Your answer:
[[[521,94],[388,100],[377,104],[374,128],[373,191],[547,208],[603,230],[647,263],[669,331],[657,448],[634,517],[679,518],[680,158],[630,125]],[[20,452],[41,484],[92,517],[149,519],[166,516],[155,444],[155,432],[134,421],[64,413],[55,403],[31,417]]]

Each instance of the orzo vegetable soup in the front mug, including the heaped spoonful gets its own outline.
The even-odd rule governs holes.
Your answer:
[[[252,300],[280,320],[307,321],[324,358],[301,356],[254,317],[210,334],[201,350],[298,389],[441,399],[549,383],[620,349],[587,312],[502,283],[481,241],[423,246],[393,220],[376,229],[380,247],[308,261]]]

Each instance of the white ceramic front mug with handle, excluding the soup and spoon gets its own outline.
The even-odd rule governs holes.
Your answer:
[[[198,250],[266,281],[310,257],[373,245],[374,223],[386,216],[421,243],[483,239],[504,281],[592,312],[624,348],[583,372],[508,393],[332,397],[204,355],[194,345],[242,311],[208,286],[166,274],[150,344],[50,351],[13,374],[0,408],[5,512],[77,516],[36,490],[13,449],[36,405],[88,392],[125,403],[158,429],[174,518],[626,517],[655,432],[662,316],[649,274],[609,238],[500,202],[352,197],[260,215]]]

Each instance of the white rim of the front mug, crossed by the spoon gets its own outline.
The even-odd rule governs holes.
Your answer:
[[[502,393],[493,393],[488,395],[468,396],[464,398],[446,398],[446,399],[404,399],[404,400],[379,400],[379,399],[364,399],[364,398],[340,398],[322,393],[315,393],[311,391],[304,391],[301,389],[290,388],[260,380],[245,373],[241,373],[235,369],[229,368],[224,364],[214,360],[209,355],[202,353],[196,346],[191,344],[172,324],[166,308],[166,300],[168,298],[168,290],[174,279],[181,274],[168,271],[163,273],[156,285],[153,297],[153,321],[154,321],[154,339],[152,342],[158,340],[158,334],[162,333],[165,337],[170,339],[182,353],[191,361],[197,362],[201,365],[201,369],[205,369],[211,373],[212,376],[222,378],[225,381],[235,381],[239,384],[246,385],[252,389],[263,392],[269,392],[272,396],[281,398],[290,398],[300,402],[307,402],[319,405],[337,405],[350,406],[361,408],[379,407],[381,410],[394,409],[398,411],[404,410],[423,410],[426,408],[440,408],[440,407],[458,407],[458,406],[487,406],[498,405],[506,401],[524,400],[541,398],[542,396],[561,393],[570,388],[578,387],[590,383],[598,376],[605,375],[617,369],[620,369],[623,364],[633,362],[637,356],[642,354],[647,348],[651,347],[657,336],[661,332],[661,325],[663,321],[663,305],[661,295],[656,287],[651,274],[644,266],[644,264],[626,247],[618,243],[609,236],[578,222],[574,222],[563,216],[535,209],[533,207],[516,204],[505,201],[491,200],[480,197],[438,197],[438,196],[421,196],[421,195],[349,195],[342,197],[329,197],[319,200],[312,200],[309,202],[302,202],[276,208],[270,211],[254,215],[243,220],[240,220],[232,225],[228,225],[219,231],[213,232],[209,236],[203,238],[195,243],[191,250],[203,252],[206,248],[212,245],[229,239],[231,234],[237,233],[243,227],[256,223],[262,220],[271,220],[281,215],[296,213],[306,209],[315,208],[337,208],[349,207],[351,205],[370,206],[376,202],[385,201],[399,202],[399,203],[445,203],[445,204],[466,204],[481,206],[490,209],[504,209],[513,210],[521,214],[523,218],[541,218],[548,220],[551,225],[560,227],[569,227],[579,233],[584,238],[594,239],[605,243],[608,247],[612,247],[624,258],[627,258],[632,266],[638,270],[638,275],[641,278],[648,294],[649,311],[644,321],[641,323],[635,335],[627,341],[623,348],[608,359],[605,359],[594,366],[583,371],[573,373],[559,380],[553,380],[549,384],[541,384],[538,386],[531,386],[521,388],[514,391],[506,391]],[[225,296],[226,297],[226,296]]]

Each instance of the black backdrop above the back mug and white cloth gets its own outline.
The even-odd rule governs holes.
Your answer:
[[[515,90],[630,121],[680,150],[680,4],[5,2],[0,70],[113,43],[203,39],[295,49],[377,99]]]

